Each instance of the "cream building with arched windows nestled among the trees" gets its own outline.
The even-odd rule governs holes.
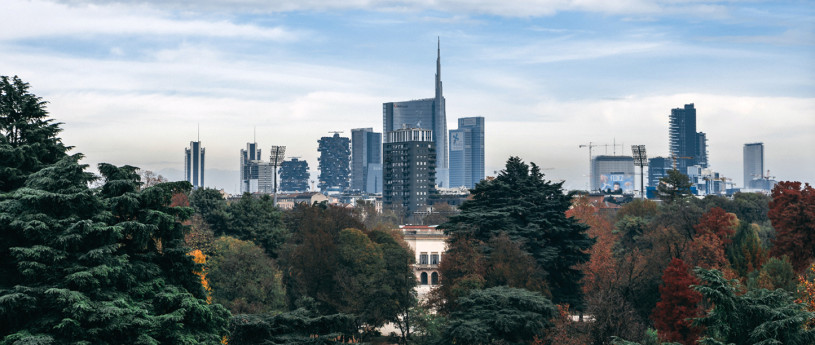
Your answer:
[[[439,285],[439,263],[447,250],[447,236],[435,225],[400,225],[405,242],[416,253],[413,273],[419,282],[416,290],[419,298],[424,298],[430,290]]]

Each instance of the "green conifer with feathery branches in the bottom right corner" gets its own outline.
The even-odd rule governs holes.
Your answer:
[[[728,280],[718,270],[697,268],[701,284],[695,286],[713,308],[698,319],[705,327],[699,344],[815,344],[815,329],[806,323],[815,314],[795,302],[793,294],[782,290],[748,289],[737,280]]]

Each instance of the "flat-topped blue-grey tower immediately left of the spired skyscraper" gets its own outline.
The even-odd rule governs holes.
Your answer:
[[[382,193],[382,133],[373,128],[351,130],[351,189]]]

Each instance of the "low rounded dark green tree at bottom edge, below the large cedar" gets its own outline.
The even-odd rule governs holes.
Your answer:
[[[457,303],[443,344],[529,344],[545,336],[557,313],[541,294],[505,286],[473,290]]]

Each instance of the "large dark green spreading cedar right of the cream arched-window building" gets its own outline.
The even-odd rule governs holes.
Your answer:
[[[461,213],[441,228],[482,243],[506,234],[545,272],[556,303],[582,305],[583,274],[577,265],[588,261],[587,250],[594,240],[586,234],[588,226],[566,217],[571,198],[563,193],[562,183],[545,180],[535,163],[527,165],[510,157],[498,177],[478,183],[472,196],[461,206]],[[486,246],[485,255],[490,252]],[[449,277],[442,279],[442,284],[455,283]]]

